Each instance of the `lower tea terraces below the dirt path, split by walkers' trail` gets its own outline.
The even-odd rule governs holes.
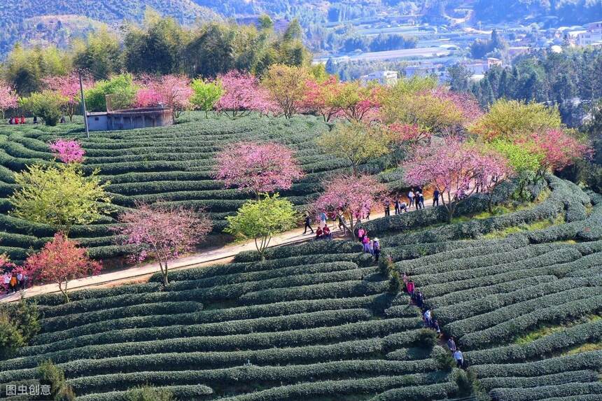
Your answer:
[[[423,291],[482,391],[500,401],[600,400],[602,197],[552,176],[530,190],[545,187],[541,202],[489,218],[440,225],[444,211],[433,208],[365,227],[381,237],[382,259]],[[476,195],[461,212],[485,209]],[[467,395],[465,373],[423,329],[420,310],[360,248],[316,241],[269,249],[264,262],[245,252],[173,272],[165,291],[153,276],[75,291],[69,304],[36,297],[42,330],[0,361],[0,384],[35,383],[38,363],[51,359],[78,400],[123,400],[147,383],[181,400]]]

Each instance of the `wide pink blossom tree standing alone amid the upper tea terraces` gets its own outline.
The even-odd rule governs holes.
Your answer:
[[[288,190],[303,173],[293,152],[279,143],[237,142],[217,155],[216,178],[226,188],[251,190],[257,199],[262,193]]]

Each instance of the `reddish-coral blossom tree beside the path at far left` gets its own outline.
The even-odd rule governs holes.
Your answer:
[[[25,267],[33,281],[56,283],[66,302],[69,302],[67,293],[69,281],[98,274],[102,264],[91,260],[87,256],[86,248],[79,248],[76,241],[57,232],[52,241],[45,244],[40,252],[34,253],[25,260]]]

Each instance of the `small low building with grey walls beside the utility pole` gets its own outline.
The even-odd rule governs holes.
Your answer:
[[[116,131],[148,127],[167,127],[174,124],[171,108],[127,108],[102,113],[87,113],[90,131]]]

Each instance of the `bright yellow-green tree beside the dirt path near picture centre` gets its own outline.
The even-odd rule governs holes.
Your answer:
[[[238,209],[236,216],[226,217],[229,234],[255,239],[255,248],[262,260],[265,248],[272,237],[297,225],[299,217],[288,199],[281,199],[276,193],[263,199],[248,201]]]

